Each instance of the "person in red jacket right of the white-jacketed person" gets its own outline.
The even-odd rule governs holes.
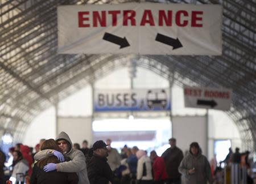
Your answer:
[[[166,165],[163,158],[159,157],[155,151],[151,151],[150,159],[153,161],[154,183],[163,184],[167,179]]]

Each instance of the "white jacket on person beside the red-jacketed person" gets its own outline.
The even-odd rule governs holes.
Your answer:
[[[146,171],[147,174],[146,176],[142,176],[143,174],[143,163],[146,164]],[[141,159],[138,160],[138,164],[137,164],[137,179],[141,179],[141,180],[152,180],[152,165],[151,165],[151,160],[148,156],[143,155],[141,157]]]

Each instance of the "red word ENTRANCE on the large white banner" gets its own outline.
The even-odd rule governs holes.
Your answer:
[[[136,11],[134,10],[112,10],[112,11],[79,11],[78,25],[83,27],[106,27],[110,24],[117,26],[118,16],[122,16],[121,24],[123,26],[167,26],[177,25],[178,27],[203,27],[203,11],[187,11],[179,10],[159,10],[158,16],[153,16],[151,10],[144,10],[142,17],[136,19]],[[155,17],[155,19],[154,19]],[[109,19],[108,19],[109,18]],[[139,20],[139,23],[137,22]],[[110,21],[107,22],[107,21]]]

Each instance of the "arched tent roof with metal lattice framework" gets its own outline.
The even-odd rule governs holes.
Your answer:
[[[244,149],[255,151],[256,1],[164,2],[223,5],[221,56],[57,55],[57,6],[126,2],[131,1],[1,1],[0,136],[10,132],[21,140],[43,109],[136,58],[138,66],[181,86],[232,88],[226,113],[236,122]]]

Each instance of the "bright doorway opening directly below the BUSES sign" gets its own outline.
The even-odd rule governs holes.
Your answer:
[[[102,119],[93,121],[93,140],[112,140],[112,147],[121,151],[137,146],[148,153],[155,149],[158,155],[166,150],[171,137],[171,121],[163,119]]]

